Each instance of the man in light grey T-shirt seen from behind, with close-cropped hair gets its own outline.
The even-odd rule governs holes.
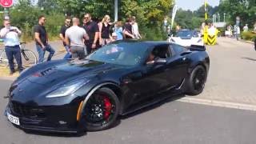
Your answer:
[[[70,47],[72,58],[83,59],[86,57],[87,51],[85,52],[85,40],[89,40],[86,30],[79,27],[79,19],[72,18],[73,26],[66,30],[66,46]]]

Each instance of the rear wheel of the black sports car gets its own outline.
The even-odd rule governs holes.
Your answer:
[[[186,94],[198,95],[202,93],[207,78],[206,69],[203,66],[196,66],[187,81]]]

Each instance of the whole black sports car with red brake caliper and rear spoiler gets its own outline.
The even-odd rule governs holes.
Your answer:
[[[83,60],[31,67],[13,82],[6,116],[23,130],[106,130],[118,115],[168,94],[200,94],[210,59],[204,46],[118,41]]]

